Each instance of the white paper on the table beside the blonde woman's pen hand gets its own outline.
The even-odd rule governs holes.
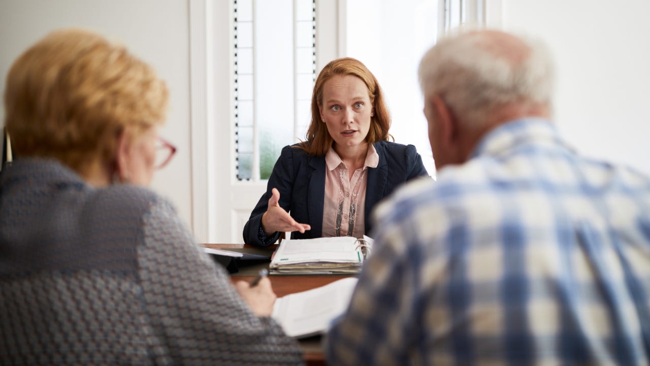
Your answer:
[[[309,337],[328,330],[347,309],[356,277],[339,279],[317,289],[289,294],[276,300],[272,317],[289,337]]]

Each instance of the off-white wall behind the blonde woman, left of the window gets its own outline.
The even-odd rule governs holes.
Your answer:
[[[6,73],[27,47],[53,29],[92,29],[125,44],[151,64],[170,89],[161,135],[178,147],[152,188],[170,198],[181,217],[192,218],[187,0],[2,0],[0,1],[0,89]],[[4,125],[4,105],[0,106]]]

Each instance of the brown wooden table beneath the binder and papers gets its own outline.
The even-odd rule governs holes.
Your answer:
[[[244,244],[203,244],[205,247],[213,249],[229,249],[229,248],[252,248]],[[273,251],[274,247],[268,248]],[[254,264],[240,268],[240,272],[232,274],[231,280],[233,283],[236,281],[252,281],[257,272],[261,268],[268,268],[268,262]],[[270,275],[268,279],[271,281],[273,290],[278,295],[278,298],[293,294],[294,292],[301,292],[305,290],[315,289],[316,287],[327,285],[337,279],[349,277],[348,275]],[[323,354],[322,345],[320,343],[320,336],[309,337],[300,339],[299,343],[304,351],[304,359],[307,365],[326,365],[325,356]]]

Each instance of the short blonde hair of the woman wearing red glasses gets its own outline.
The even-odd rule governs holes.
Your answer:
[[[16,156],[55,158],[79,173],[110,164],[127,128],[162,124],[168,90],[153,69],[96,33],[45,36],[12,64],[5,126]]]

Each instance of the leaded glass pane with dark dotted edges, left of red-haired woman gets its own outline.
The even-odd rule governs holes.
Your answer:
[[[257,181],[309,125],[315,0],[235,0],[233,10],[237,179]]]

